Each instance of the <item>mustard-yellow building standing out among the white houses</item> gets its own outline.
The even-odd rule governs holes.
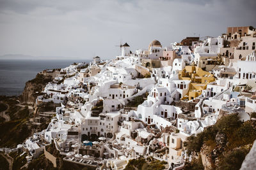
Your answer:
[[[188,97],[183,97],[182,99],[195,99],[195,97],[200,96],[202,90],[206,89],[207,84],[215,81],[214,76],[202,70],[200,67],[196,66],[186,66],[182,71],[179,71],[179,80],[190,80],[189,92],[186,94]]]

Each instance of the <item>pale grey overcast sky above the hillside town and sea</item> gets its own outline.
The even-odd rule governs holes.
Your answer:
[[[134,51],[154,39],[168,46],[256,27],[255,7],[255,0],[0,0],[0,55],[112,59],[120,43]]]

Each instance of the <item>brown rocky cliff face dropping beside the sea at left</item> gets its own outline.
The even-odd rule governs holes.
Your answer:
[[[52,81],[51,76],[37,74],[33,80],[26,82],[26,86],[20,96],[20,102],[26,104],[35,104],[36,97],[44,90],[45,85]]]

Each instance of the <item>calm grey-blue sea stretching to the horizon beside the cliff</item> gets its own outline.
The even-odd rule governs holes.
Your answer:
[[[19,96],[26,82],[44,69],[63,68],[92,60],[0,60],[0,96]]]

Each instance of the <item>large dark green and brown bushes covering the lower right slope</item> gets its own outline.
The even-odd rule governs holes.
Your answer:
[[[216,141],[216,135],[221,134],[222,141]],[[188,154],[200,153],[202,146],[207,146],[207,152],[218,150],[216,157],[220,160],[220,169],[239,169],[245,155],[249,152],[247,145],[252,145],[256,139],[255,121],[241,122],[237,114],[223,116],[215,125],[207,127],[196,136],[189,136],[184,143]],[[220,142],[220,141],[219,141]],[[224,152],[225,151],[225,152]],[[214,160],[212,160],[214,162]],[[186,162],[188,169],[200,166],[200,160]],[[197,168],[198,169],[198,168]]]

